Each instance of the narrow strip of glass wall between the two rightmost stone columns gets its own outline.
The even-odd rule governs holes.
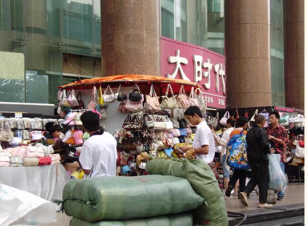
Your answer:
[[[283,0],[270,0],[272,104],[285,106]]]

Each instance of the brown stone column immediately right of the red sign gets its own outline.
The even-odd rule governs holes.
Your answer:
[[[229,108],[271,105],[268,0],[225,1]]]

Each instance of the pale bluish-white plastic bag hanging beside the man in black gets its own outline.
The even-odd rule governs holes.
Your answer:
[[[269,189],[282,191],[285,190],[287,179],[282,171],[280,154],[268,154],[269,158]]]

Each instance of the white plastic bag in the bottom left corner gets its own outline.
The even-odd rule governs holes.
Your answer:
[[[32,193],[0,184],[0,225],[15,221],[31,225],[55,222],[55,205]]]

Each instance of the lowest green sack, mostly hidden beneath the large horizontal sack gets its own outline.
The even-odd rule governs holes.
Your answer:
[[[77,218],[72,218],[70,226],[192,226],[193,216],[189,212],[154,216],[141,219],[130,220],[109,220],[99,222],[88,222]]]

